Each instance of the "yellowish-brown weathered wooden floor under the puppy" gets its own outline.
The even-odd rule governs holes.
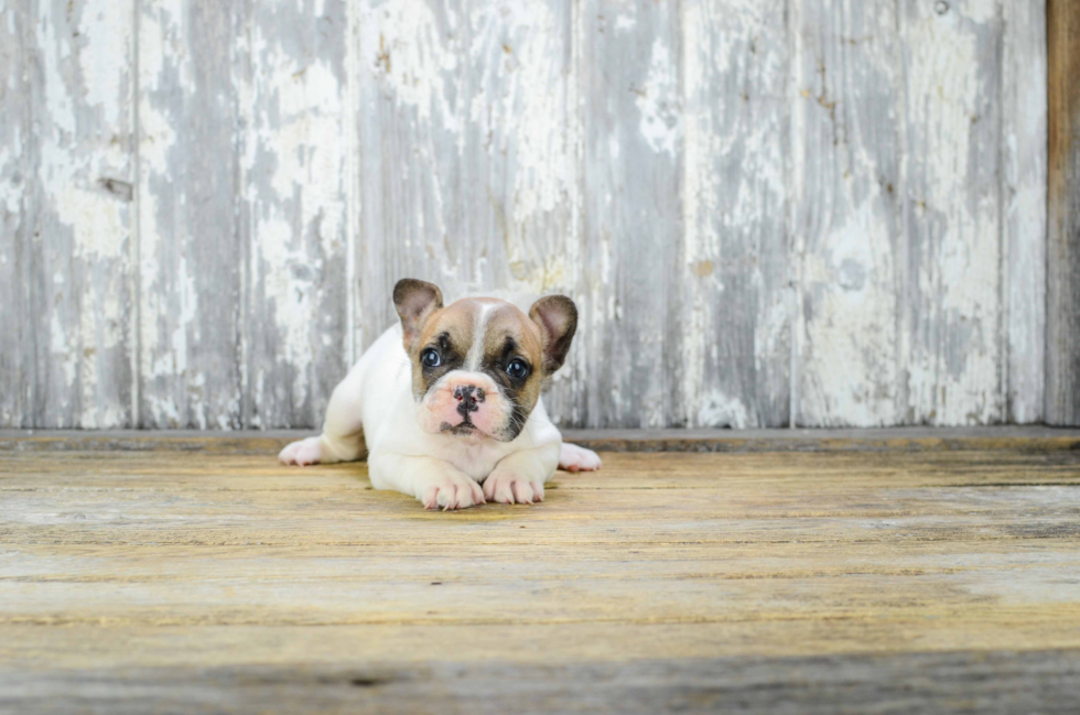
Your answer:
[[[460,513],[267,442],[7,440],[0,711],[1080,713],[1068,440],[607,453]]]

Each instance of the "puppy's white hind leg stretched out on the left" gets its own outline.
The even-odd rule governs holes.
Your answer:
[[[333,464],[354,462],[364,456],[364,423],[360,421],[360,376],[352,370],[334,388],[326,407],[323,433],[288,445],[278,455],[281,464]]]

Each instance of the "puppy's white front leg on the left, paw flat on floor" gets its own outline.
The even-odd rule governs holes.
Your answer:
[[[484,491],[472,477],[435,457],[376,453],[368,456],[368,476],[376,489],[415,497],[425,509],[466,509],[484,503]]]

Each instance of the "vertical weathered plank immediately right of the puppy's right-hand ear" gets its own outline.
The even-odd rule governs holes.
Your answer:
[[[685,423],[679,6],[583,0],[587,426]]]

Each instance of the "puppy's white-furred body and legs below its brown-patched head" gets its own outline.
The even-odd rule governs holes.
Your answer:
[[[371,485],[411,495],[429,509],[460,509],[485,499],[542,501],[543,485],[562,454],[573,457],[574,470],[600,466],[595,453],[562,444],[542,400],[512,442],[422,429],[400,325],[384,333],[334,389],[322,435],[293,442],[279,458],[296,465],[350,462],[364,456],[365,444]],[[566,453],[564,446],[576,452]],[[592,458],[582,462],[581,453]]]

